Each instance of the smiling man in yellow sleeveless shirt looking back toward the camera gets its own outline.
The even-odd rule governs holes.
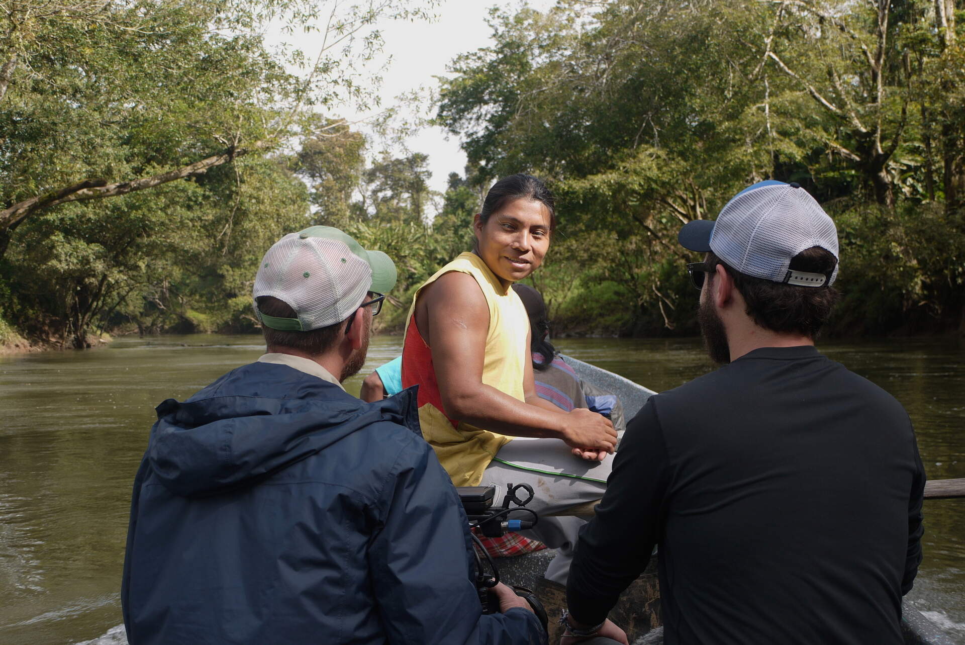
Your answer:
[[[558,549],[546,577],[565,583],[582,519],[547,514],[599,499],[617,433],[586,408],[563,412],[536,394],[530,323],[510,288],[542,263],[553,197],[529,175],[496,182],[474,221],[476,248],[416,293],[402,385],[419,385],[423,435],[456,486],[529,483],[540,514],[527,537]]]

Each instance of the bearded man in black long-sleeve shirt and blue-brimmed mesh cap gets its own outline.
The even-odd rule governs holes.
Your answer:
[[[834,222],[796,183],[759,182],[679,241],[704,254],[687,269],[722,367],[630,422],[568,620],[601,623],[656,545],[668,645],[902,643],[924,469],[900,404],[814,349],[837,297]]]

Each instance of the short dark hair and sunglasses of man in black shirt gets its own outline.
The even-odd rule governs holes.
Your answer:
[[[747,315],[758,326],[771,331],[816,338],[838,302],[838,291],[831,286],[797,287],[756,278],[734,270],[713,251],[707,254],[706,264],[709,266],[708,281],[713,278],[717,265],[724,266],[733,278],[737,291],[744,296]],[[834,254],[820,246],[813,246],[794,256],[788,268],[830,275],[837,265]]]

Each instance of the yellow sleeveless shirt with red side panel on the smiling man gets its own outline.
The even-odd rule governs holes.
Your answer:
[[[530,360],[526,344],[530,321],[516,292],[511,288],[504,289],[499,278],[475,253],[459,254],[451,263],[436,271],[412,299],[402,348],[402,386],[419,385],[419,423],[423,436],[435,450],[439,463],[449,473],[453,484],[478,486],[486,466],[512,437],[446,416],[432,367],[431,351],[413,322],[419,294],[439,276],[450,271],[473,276],[489,307],[483,383],[519,401],[525,401],[523,372],[526,361]]]

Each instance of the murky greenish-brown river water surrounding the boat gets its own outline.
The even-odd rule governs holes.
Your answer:
[[[130,486],[153,407],[256,359],[258,336],[121,338],[109,348],[0,356],[0,643],[61,645],[121,623]],[[372,340],[362,375],[401,338]],[[697,340],[564,339],[559,349],[660,391],[712,369]],[[929,479],[965,477],[965,341],[825,344],[908,409]],[[361,377],[346,383],[357,393]],[[911,594],[965,642],[965,499],[925,502]],[[116,633],[116,631],[114,631]]]

